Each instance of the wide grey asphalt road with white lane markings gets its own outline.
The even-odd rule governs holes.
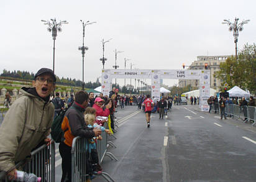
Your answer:
[[[117,148],[107,150],[118,161],[102,163],[115,181],[256,181],[256,127],[189,105],[173,106],[164,119],[152,114],[147,128],[137,107],[120,110]]]

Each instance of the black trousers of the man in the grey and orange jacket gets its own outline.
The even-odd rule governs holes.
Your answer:
[[[71,147],[63,142],[59,145],[60,156],[62,157],[62,181],[65,181],[66,175],[67,181],[71,182]]]

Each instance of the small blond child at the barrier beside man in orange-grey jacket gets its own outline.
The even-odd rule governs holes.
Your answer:
[[[106,132],[107,134],[110,134],[110,130],[105,129],[103,126],[98,125],[96,123],[96,109],[93,107],[87,107],[85,110],[85,122],[89,128],[94,129],[101,129],[102,132]],[[102,139],[101,135],[98,137],[99,140]],[[91,153],[91,165],[93,167],[94,173],[101,173],[102,168],[99,165],[99,158],[98,158],[98,152],[96,151],[96,137],[93,137],[93,139],[89,140],[89,153]]]

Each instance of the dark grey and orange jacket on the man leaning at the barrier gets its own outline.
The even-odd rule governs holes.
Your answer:
[[[85,124],[85,109],[76,102],[72,106],[75,108],[70,107],[66,111],[62,122],[62,130],[68,129],[64,134],[64,143],[70,147],[72,146],[73,139],[77,136],[87,139],[94,137],[93,128],[88,128]]]

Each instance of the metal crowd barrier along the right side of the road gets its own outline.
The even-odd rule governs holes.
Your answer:
[[[220,114],[219,104],[217,107],[212,107],[212,112]],[[253,122],[252,125],[256,123],[256,107],[253,106],[239,106],[236,104],[226,104],[225,114],[231,116],[234,119],[242,119],[244,122]]]

